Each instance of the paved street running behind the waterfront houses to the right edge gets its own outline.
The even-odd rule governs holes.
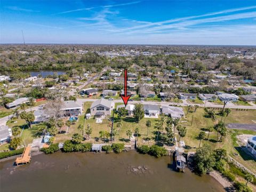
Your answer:
[[[77,101],[81,101],[81,102],[86,102],[86,101],[96,101],[97,99],[77,99]],[[114,100],[114,102],[123,102],[121,99],[119,100]],[[173,102],[155,102],[155,101],[129,101],[129,103],[145,103],[145,104],[152,104],[152,105],[173,105]],[[233,103],[232,103],[233,104]],[[230,108],[230,109],[256,109],[256,106],[236,106],[236,105],[232,105],[230,103],[228,103],[226,105],[225,108]],[[199,106],[199,107],[212,107],[212,108],[222,108],[223,105],[216,105],[216,104],[213,104],[211,102],[206,102],[205,104],[194,104],[194,103],[187,103],[187,102],[184,102],[184,103],[176,103],[176,105],[178,106],[182,106],[182,107],[185,107],[185,106]]]

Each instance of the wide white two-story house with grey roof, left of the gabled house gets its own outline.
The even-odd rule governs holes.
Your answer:
[[[64,101],[61,110],[64,116],[78,116],[83,113],[82,103],[77,101]]]

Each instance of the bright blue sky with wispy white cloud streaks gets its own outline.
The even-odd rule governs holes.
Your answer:
[[[256,1],[3,1],[1,43],[256,45]]]

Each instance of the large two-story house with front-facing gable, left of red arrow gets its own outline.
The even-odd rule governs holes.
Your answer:
[[[111,111],[115,108],[115,103],[106,99],[99,99],[94,101],[90,107],[91,115],[105,118],[107,115],[111,115]]]

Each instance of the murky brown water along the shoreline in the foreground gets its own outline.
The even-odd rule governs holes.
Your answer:
[[[135,151],[41,154],[27,165],[17,167],[13,162],[0,162],[1,192],[224,191],[209,175],[173,171],[170,157],[155,158]]]

